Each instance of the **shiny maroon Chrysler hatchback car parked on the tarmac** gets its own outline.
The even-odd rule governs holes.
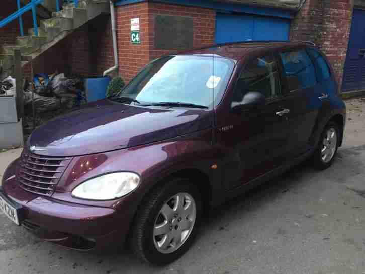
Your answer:
[[[80,250],[129,242],[166,264],[211,208],[308,157],[329,167],[345,115],[311,43],[164,56],[113,97],[37,128],[3,176],[0,208],[47,241]]]

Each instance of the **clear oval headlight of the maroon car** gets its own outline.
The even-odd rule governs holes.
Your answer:
[[[72,196],[87,200],[112,200],[136,189],[140,180],[132,172],[108,173],[81,183],[72,191]]]

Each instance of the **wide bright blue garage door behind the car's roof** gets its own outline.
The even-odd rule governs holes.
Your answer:
[[[217,14],[216,43],[289,39],[290,20],[256,15]]]

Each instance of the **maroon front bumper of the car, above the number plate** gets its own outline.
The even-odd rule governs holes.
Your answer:
[[[19,187],[15,177],[12,178],[15,166],[13,162],[4,173],[0,192],[19,208],[22,226],[44,240],[74,249],[100,249],[112,243],[123,244],[130,218],[112,208],[29,193]]]

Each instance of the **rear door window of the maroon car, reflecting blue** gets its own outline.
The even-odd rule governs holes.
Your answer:
[[[313,63],[304,49],[284,52],[280,54],[280,57],[290,91],[312,87],[316,84]]]

